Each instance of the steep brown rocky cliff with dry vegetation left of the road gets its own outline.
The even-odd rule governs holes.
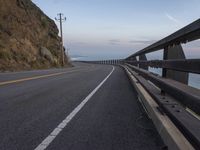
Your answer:
[[[58,32],[31,0],[0,0],[0,70],[61,66]]]

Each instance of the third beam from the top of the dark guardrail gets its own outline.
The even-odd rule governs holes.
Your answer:
[[[200,114],[200,90],[179,83],[174,80],[155,76],[154,74],[144,69],[127,64],[132,70],[139,73],[145,79],[154,83],[161,90],[171,95],[177,102],[181,103],[185,107],[190,108],[197,114]]]

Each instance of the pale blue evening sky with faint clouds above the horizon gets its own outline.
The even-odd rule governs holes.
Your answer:
[[[64,14],[64,45],[81,60],[126,58],[200,17],[200,0],[32,1],[51,19]],[[195,57],[200,41],[183,48]]]

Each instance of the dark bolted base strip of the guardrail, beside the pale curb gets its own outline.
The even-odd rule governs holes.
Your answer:
[[[161,114],[167,115],[177,126],[177,128],[182,131],[188,141],[190,141],[190,143],[192,143],[192,145],[198,149],[200,132],[199,120],[191,115],[191,113],[186,111],[185,107],[180,105],[175,98],[168,94],[161,94],[160,89],[152,85],[151,82],[148,82],[140,74],[133,72],[132,69],[130,69],[130,72],[157,102],[159,105],[158,110],[161,112]]]

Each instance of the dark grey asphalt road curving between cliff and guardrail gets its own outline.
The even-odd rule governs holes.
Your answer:
[[[119,67],[76,64],[69,69],[0,73],[0,150],[34,150],[66,117],[70,120],[46,149],[163,147]]]

